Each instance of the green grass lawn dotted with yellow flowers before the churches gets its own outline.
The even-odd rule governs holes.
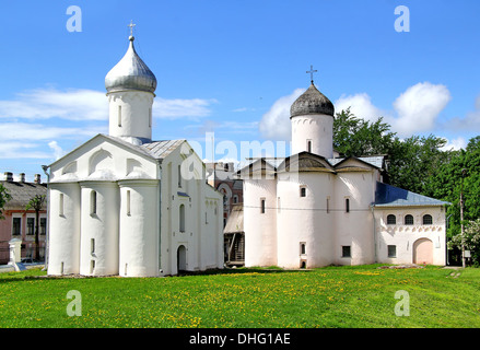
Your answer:
[[[480,269],[328,267],[168,278],[0,273],[0,327],[480,327]],[[457,271],[455,271],[457,273]],[[70,290],[81,316],[68,316]],[[410,316],[395,305],[409,294]]]

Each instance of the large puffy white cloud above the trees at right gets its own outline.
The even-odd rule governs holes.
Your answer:
[[[397,116],[387,121],[400,136],[431,131],[435,128],[438,115],[450,100],[450,93],[445,85],[418,83],[408,88],[394,102]]]

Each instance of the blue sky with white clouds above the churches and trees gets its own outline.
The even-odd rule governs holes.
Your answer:
[[[70,5],[81,32],[67,30]],[[399,5],[410,32],[395,30]],[[238,150],[288,140],[311,65],[337,110],[384,116],[402,138],[434,133],[460,148],[480,133],[478,1],[19,0],[1,1],[0,13],[0,172],[28,180],[108,132],[104,79],[131,20],[159,81],[156,140],[203,145],[209,131]]]

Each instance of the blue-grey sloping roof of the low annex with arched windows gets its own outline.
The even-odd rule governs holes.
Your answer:
[[[377,182],[374,207],[423,207],[445,205],[450,203]]]

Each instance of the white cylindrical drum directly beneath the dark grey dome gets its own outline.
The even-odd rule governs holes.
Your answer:
[[[327,115],[297,116],[292,122],[292,154],[307,151],[312,140],[312,153],[330,159],[333,156],[333,117]]]

